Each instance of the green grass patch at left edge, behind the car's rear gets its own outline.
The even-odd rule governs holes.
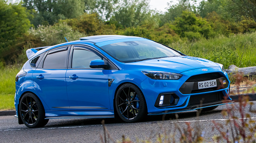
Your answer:
[[[20,69],[21,65],[6,66],[0,69],[0,110],[15,109],[15,76]]]

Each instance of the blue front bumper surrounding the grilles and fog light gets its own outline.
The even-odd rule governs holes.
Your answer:
[[[208,70],[202,72],[202,69],[193,69],[183,72],[181,73],[183,76],[180,80],[153,80],[150,78],[144,80],[141,83],[141,89],[146,99],[148,114],[168,114],[232,103],[231,98],[228,96],[230,83],[228,75],[222,73],[219,68],[204,69]],[[202,80],[192,81],[190,77],[207,73],[218,73],[221,75],[215,78],[218,82],[217,87],[215,89],[211,88],[208,90],[206,88],[198,91],[198,82]],[[220,84],[224,80],[225,85]],[[184,84],[190,84],[191,86],[184,88]],[[164,94],[175,94],[179,98],[178,103],[174,105],[173,102],[170,103],[170,106],[165,105],[165,107],[156,106],[156,102],[159,102],[158,98]]]

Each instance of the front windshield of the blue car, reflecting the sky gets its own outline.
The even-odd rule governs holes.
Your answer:
[[[161,57],[181,56],[167,46],[150,40],[125,41],[101,46],[110,56],[123,63],[138,62]]]

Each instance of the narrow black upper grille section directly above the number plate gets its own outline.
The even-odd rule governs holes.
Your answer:
[[[223,77],[223,75],[219,73],[207,73],[207,74],[199,74],[191,76],[187,79],[186,82],[197,82],[197,81],[205,81],[205,80],[214,80]]]

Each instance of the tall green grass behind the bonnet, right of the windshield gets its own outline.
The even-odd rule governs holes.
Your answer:
[[[246,44],[247,43],[247,44]],[[236,34],[230,37],[220,35],[212,39],[195,42],[178,41],[170,47],[187,54],[221,63],[225,69],[234,64],[237,67],[256,66],[256,32]]]

